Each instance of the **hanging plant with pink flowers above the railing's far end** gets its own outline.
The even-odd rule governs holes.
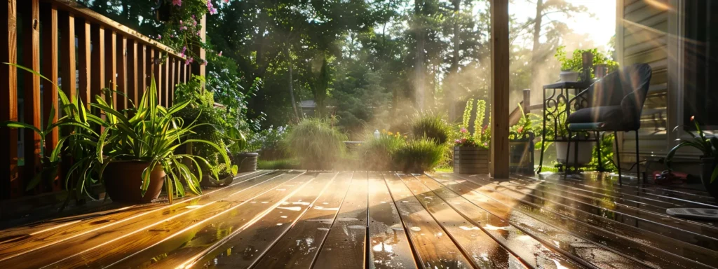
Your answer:
[[[200,65],[207,65],[207,60],[202,59],[195,53],[197,47],[208,49],[208,45],[202,42],[201,19],[205,14],[217,14],[215,5],[229,3],[229,0],[157,0],[155,8],[157,19],[164,22],[164,32],[159,39],[162,44],[172,47],[185,57],[185,65],[197,62]],[[165,55],[164,57],[167,57]],[[163,59],[164,60],[164,59]]]

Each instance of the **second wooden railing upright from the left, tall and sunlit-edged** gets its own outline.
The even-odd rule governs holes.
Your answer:
[[[23,38],[23,64],[35,72],[40,72],[40,4],[39,0],[23,1],[20,5],[24,19],[22,20],[24,33]],[[24,72],[24,121],[42,130],[40,120],[40,77],[29,72]],[[42,171],[39,134],[26,130],[24,132],[24,171],[23,178],[27,181]],[[27,184],[27,182],[25,182]]]

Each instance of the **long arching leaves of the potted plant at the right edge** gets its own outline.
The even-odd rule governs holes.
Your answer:
[[[676,151],[686,146],[696,148],[697,150],[701,151],[701,154],[703,154],[701,158],[715,158],[716,156],[718,156],[718,138],[715,136],[707,137],[703,130],[701,130],[698,121],[696,121],[696,116],[691,116],[691,121],[696,126],[696,131],[698,132],[698,134],[696,135],[696,133],[689,131],[688,128],[683,128],[683,130],[688,133],[691,138],[679,138],[680,143],[671,148],[671,151],[668,151],[668,154],[666,155],[666,164],[669,167],[671,166],[671,161],[673,160],[673,157],[676,156]],[[676,126],[676,128],[673,128],[673,131],[677,131],[679,127],[680,126]],[[716,178],[718,178],[718,166],[713,169],[710,182],[713,183]]]

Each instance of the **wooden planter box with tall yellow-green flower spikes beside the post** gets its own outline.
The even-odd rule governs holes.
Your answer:
[[[473,99],[466,102],[460,138],[454,141],[454,173],[459,174],[488,174],[489,173],[489,141],[490,130],[488,125],[482,128],[486,102],[477,100],[474,133],[468,131],[469,121],[473,108]]]

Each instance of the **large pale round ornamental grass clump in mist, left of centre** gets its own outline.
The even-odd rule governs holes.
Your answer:
[[[330,120],[304,118],[290,128],[286,145],[305,169],[330,169],[344,154],[346,140],[347,136],[337,131]]]

